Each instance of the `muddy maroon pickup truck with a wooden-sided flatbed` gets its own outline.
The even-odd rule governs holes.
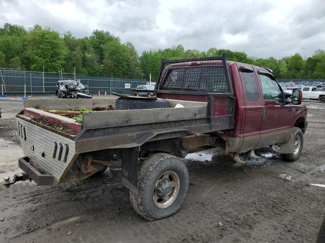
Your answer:
[[[226,60],[226,55],[163,60],[156,97],[83,100],[93,109],[82,123],[50,114],[50,109],[77,109],[80,101],[24,100],[16,116],[25,156],[23,173],[5,185],[34,180],[57,185],[103,173],[109,168],[129,189],[131,204],[148,220],[168,217],[180,209],[189,175],[180,157],[219,147],[245,163],[239,154],[278,145],[286,161],[298,159],[307,128],[302,92],[282,91],[272,71]],[[48,127],[39,118],[69,128]]]

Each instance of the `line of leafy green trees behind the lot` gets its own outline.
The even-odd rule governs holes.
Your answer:
[[[317,50],[303,59],[296,53],[276,59],[248,57],[244,52],[210,48],[206,52],[182,45],[144,51],[141,56],[131,42],[122,43],[118,36],[95,29],[88,37],[76,38],[70,31],[59,34],[47,27],[6,23],[0,28],[0,67],[16,70],[73,72],[79,75],[144,77],[158,75],[161,59],[182,59],[228,54],[228,60],[273,69],[277,78],[325,79],[325,52]]]

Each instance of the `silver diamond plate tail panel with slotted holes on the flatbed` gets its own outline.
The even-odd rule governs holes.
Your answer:
[[[18,136],[25,156],[55,176],[57,182],[74,162],[75,141],[16,118]]]

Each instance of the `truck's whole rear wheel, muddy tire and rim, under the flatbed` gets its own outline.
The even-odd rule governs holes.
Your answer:
[[[147,220],[175,214],[188,190],[188,171],[181,159],[166,153],[148,157],[139,172],[138,194],[130,191],[134,210]]]

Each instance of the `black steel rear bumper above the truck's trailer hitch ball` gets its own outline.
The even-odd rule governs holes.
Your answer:
[[[39,186],[53,186],[56,184],[56,179],[52,175],[43,175],[29,164],[28,157],[22,157],[18,160],[19,168],[28,174],[28,177],[35,181]]]

